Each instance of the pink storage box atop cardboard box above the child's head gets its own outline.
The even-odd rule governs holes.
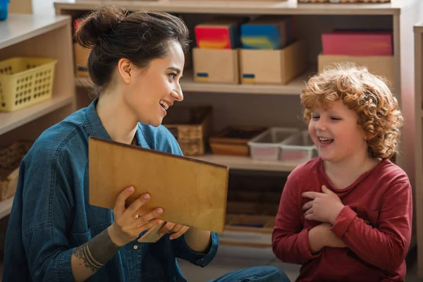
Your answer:
[[[392,56],[392,32],[333,31],[321,35],[324,55]]]

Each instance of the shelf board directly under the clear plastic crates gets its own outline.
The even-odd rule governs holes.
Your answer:
[[[286,171],[291,172],[299,164],[288,164],[283,161],[258,161],[250,157],[223,156],[209,154],[204,156],[190,157],[200,159],[214,164],[221,164],[233,169],[243,169],[249,171]]]

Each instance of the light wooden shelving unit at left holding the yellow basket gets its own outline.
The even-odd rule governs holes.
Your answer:
[[[75,110],[71,18],[10,14],[0,21],[0,60],[37,56],[58,60],[51,99],[0,113],[0,147],[20,139],[35,140],[42,131]],[[13,197],[0,202],[0,219],[11,212]]]

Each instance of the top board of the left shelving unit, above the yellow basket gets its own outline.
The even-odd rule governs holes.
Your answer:
[[[9,14],[0,21],[0,49],[42,35],[71,21],[68,16]]]

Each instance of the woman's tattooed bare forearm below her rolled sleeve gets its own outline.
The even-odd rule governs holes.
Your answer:
[[[120,248],[111,240],[109,228],[77,247],[71,257],[75,281],[86,281],[106,262],[109,262],[109,259],[114,257]]]

